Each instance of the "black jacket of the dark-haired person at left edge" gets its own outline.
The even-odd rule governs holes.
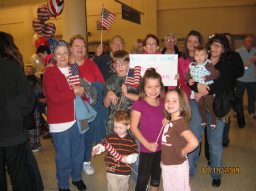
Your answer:
[[[23,117],[35,107],[36,95],[18,63],[0,56],[0,147],[27,141]]]

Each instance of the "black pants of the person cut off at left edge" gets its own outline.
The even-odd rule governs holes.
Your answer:
[[[27,165],[26,142],[10,147],[0,147],[1,191],[7,191],[5,164],[13,191],[32,191],[32,177]]]

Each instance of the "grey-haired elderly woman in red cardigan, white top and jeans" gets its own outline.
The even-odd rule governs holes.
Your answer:
[[[84,96],[84,88],[69,83],[69,44],[64,40],[51,46],[56,65],[44,73],[44,91],[47,96],[49,132],[56,151],[56,178],[59,190],[69,190],[69,177],[79,190],[86,190],[82,181],[85,135],[77,126],[74,100]]]

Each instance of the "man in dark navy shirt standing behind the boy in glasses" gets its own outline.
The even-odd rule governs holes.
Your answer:
[[[121,36],[114,36],[110,40],[110,54],[104,54],[101,56],[103,52],[103,45],[100,44],[97,48],[96,57],[93,58],[93,61],[97,64],[98,68],[100,69],[105,81],[110,77],[110,75],[116,73],[111,55],[117,50],[123,50],[123,46],[125,45],[125,41]]]

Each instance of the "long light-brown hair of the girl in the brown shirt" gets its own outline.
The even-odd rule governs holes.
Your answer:
[[[170,92],[177,92],[177,95],[179,97],[179,105],[180,105],[180,116],[179,117],[184,117],[186,121],[191,120],[191,108],[189,105],[188,101],[188,96],[185,94],[183,90],[180,88],[174,88],[169,90],[166,93],[166,96]],[[164,99],[164,102],[166,101],[166,98]],[[171,120],[171,113],[167,112],[166,108],[164,107],[164,117],[167,118],[167,120]]]

